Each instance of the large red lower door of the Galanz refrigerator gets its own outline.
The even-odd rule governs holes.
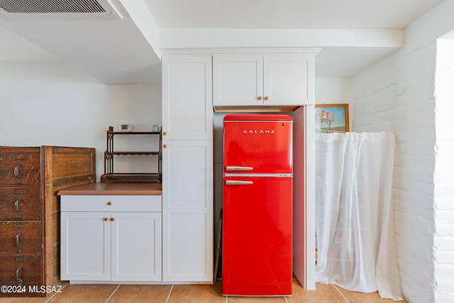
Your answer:
[[[224,177],[222,293],[292,294],[292,177]]]

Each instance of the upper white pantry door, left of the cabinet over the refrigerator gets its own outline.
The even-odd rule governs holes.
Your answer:
[[[162,139],[212,138],[211,56],[162,58]]]

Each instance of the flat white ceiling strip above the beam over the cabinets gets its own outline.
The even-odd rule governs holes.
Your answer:
[[[405,28],[437,0],[145,0],[163,28]]]

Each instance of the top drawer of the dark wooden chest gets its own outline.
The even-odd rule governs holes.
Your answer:
[[[39,153],[0,153],[0,186],[40,186]]]

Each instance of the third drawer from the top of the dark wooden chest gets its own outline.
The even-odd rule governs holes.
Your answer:
[[[0,253],[41,253],[40,221],[1,221]]]

